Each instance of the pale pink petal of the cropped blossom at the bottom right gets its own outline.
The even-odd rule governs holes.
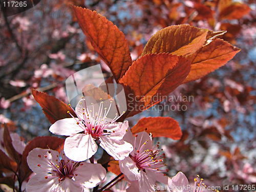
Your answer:
[[[188,180],[186,176],[179,172],[172,179],[168,179],[168,186],[171,192],[187,192],[183,190],[184,186],[188,185]]]

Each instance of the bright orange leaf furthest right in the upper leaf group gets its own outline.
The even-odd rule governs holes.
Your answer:
[[[184,80],[184,83],[202,78],[208,73],[215,71],[225,65],[239,51],[239,48],[233,47],[222,39],[212,40],[210,44],[191,55],[191,71]]]

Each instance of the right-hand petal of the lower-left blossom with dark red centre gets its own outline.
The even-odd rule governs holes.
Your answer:
[[[100,164],[80,163],[74,175],[75,181],[83,183],[86,188],[93,188],[104,180],[106,170]]]

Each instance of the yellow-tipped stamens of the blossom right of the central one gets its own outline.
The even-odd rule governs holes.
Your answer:
[[[145,132],[143,133],[145,134]],[[135,143],[136,138],[138,135],[135,135]],[[162,169],[166,164],[164,164],[165,154],[161,154],[160,152],[162,150],[159,150],[159,142],[153,146],[151,150],[148,150],[146,148],[148,143],[151,141],[146,140],[145,142],[140,141],[139,148],[136,149],[136,152],[134,154],[131,154],[131,158],[134,162],[136,162],[136,166],[139,170],[143,170],[145,172],[145,169],[157,171],[157,172],[168,172],[168,169]],[[136,146],[134,144],[134,146]],[[139,172],[138,170],[138,172]]]

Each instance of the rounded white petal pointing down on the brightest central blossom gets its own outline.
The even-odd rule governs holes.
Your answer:
[[[92,157],[97,151],[97,144],[91,135],[76,134],[68,137],[64,143],[66,156],[74,161],[84,161]]]

